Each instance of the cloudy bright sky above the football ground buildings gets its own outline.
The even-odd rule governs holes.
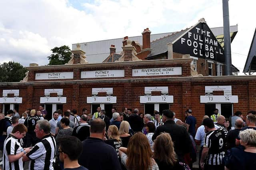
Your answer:
[[[254,0],[230,0],[232,64],[243,74],[255,22]],[[253,14],[254,13],[254,14]],[[51,49],[74,43],[180,31],[204,18],[223,26],[222,0],[12,0],[0,1],[0,63],[46,65]]]

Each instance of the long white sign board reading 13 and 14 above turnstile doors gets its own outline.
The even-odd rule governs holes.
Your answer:
[[[238,96],[200,96],[200,103],[238,103]]]

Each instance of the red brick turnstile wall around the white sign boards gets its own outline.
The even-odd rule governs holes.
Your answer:
[[[256,109],[256,79],[254,76],[188,77],[190,76],[190,62],[190,60],[185,60],[183,63],[167,60],[164,62],[156,61],[156,63],[134,62],[132,64],[102,64],[101,66],[91,65],[86,67],[81,65],[81,67],[74,67],[72,70],[69,66],[69,68],[63,68],[63,70],[74,71],[74,80],[72,81],[38,82],[33,80],[33,82],[27,83],[0,83],[0,96],[2,97],[2,90],[19,89],[19,96],[23,98],[19,112],[23,113],[28,107],[33,109],[39,107],[40,97],[44,97],[44,89],[63,88],[63,96],[67,98],[67,104],[63,105],[63,110],[76,108],[80,113],[82,108],[87,108],[90,112],[91,104],[87,104],[87,97],[92,96],[92,88],[113,88],[113,96],[117,97],[117,103],[113,104],[113,107],[116,107],[117,111],[120,112],[122,107],[133,109],[137,107],[140,112],[144,112],[144,104],[140,104],[140,96],[144,96],[144,88],[146,86],[168,86],[169,95],[174,96],[174,103],[170,104],[170,109],[176,112],[176,117],[184,121],[184,111],[192,108],[193,115],[197,118],[198,125],[200,125],[205,109],[205,104],[200,103],[200,96],[204,96],[205,86],[232,86],[232,95],[238,96],[238,103],[233,104],[234,111],[240,110],[245,114],[248,110]],[[201,65],[200,62],[198,62],[199,66]],[[134,68],[175,66],[182,66],[182,76],[132,77],[132,69]],[[60,68],[50,68],[34,72],[62,70]],[[84,80],[78,78],[82,70],[106,69],[124,69],[125,77]],[[32,72],[33,70],[30,71],[30,74]],[[106,94],[99,94],[99,96],[102,95],[106,96]],[[160,95],[160,93],[153,92],[152,95]],[[214,92],[214,95],[223,95],[223,92]],[[2,109],[3,104],[0,104],[0,110],[2,111]]]

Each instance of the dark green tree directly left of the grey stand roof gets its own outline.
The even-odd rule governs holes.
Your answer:
[[[61,47],[54,47],[53,49],[51,49],[51,51],[52,54],[47,57],[48,60],[50,60],[48,65],[66,64],[71,59],[71,50],[66,45],[63,45]]]

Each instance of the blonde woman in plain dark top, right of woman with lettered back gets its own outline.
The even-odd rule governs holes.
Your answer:
[[[128,121],[122,121],[120,124],[119,135],[120,135],[120,138],[122,139],[123,147],[127,147],[131,137],[131,135],[129,134],[129,127],[130,127],[130,124],[128,123]]]

